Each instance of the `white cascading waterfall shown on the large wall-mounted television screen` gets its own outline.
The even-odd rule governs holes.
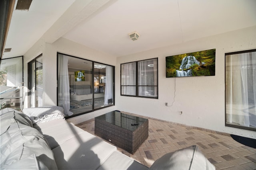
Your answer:
[[[182,59],[181,64],[180,64],[180,70],[176,70],[176,77],[188,77],[192,76],[192,69],[184,71],[183,69],[188,69],[190,66],[198,64],[200,65],[200,62],[197,61],[196,57],[194,56],[186,56]],[[201,64],[204,64],[202,62]]]

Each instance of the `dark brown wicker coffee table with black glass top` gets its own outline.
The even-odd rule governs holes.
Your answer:
[[[134,154],[148,138],[148,119],[111,111],[95,117],[95,135]]]

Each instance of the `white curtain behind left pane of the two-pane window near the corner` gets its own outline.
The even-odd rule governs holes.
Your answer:
[[[121,66],[122,94],[136,95],[136,63],[122,64]]]

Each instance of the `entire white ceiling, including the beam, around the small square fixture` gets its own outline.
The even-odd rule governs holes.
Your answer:
[[[42,36],[119,57],[254,26],[255,9],[256,0],[33,0],[14,10],[3,58],[24,55]]]

